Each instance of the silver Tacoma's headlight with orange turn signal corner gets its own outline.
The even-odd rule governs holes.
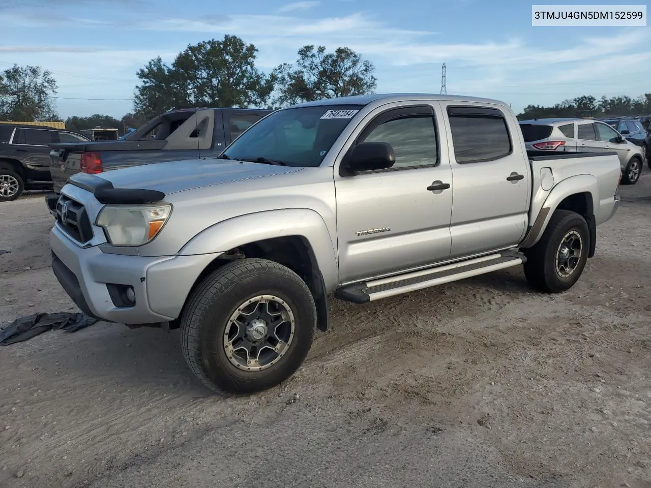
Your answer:
[[[172,212],[170,204],[106,205],[96,224],[114,246],[141,246],[158,235]]]

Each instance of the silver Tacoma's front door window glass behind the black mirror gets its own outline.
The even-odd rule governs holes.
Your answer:
[[[396,154],[393,168],[436,165],[436,131],[432,116],[387,120],[374,128],[363,142],[387,142]]]

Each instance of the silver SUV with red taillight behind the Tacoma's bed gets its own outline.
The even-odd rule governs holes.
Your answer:
[[[616,152],[622,183],[637,183],[643,150],[605,122],[583,118],[538,118],[519,122],[527,150],[557,152]]]

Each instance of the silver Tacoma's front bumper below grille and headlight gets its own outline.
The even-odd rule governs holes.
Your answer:
[[[195,281],[221,253],[128,256],[81,247],[59,228],[50,232],[52,270],[85,314],[109,322],[145,324],[178,318]],[[107,284],[131,286],[135,305],[116,306]]]

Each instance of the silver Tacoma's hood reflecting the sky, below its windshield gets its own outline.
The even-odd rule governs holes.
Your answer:
[[[151,189],[170,195],[193,188],[287,174],[301,169],[225,159],[191,159],[118,169],[97,176],[109,180],[115,188]],[[70,179],[74,180],[75,175]]]

